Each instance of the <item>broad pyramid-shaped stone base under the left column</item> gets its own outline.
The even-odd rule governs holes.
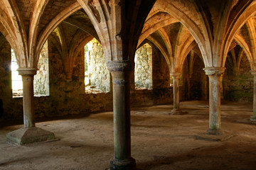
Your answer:
[[[6,137],[9,142],[14,142],[18,145],[55,139],[53,132],[42,130],[41,128],[36,127],[14,130],[7,133]]]

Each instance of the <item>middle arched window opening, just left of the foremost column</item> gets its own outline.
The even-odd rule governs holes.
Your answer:
[[[85,92],[110,91],[110,72],[107,69],[102,45],[95,38],[85,45]]]

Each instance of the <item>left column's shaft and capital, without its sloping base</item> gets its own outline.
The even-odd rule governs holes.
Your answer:
[[[33,94],[33,77],[36,69],[18,69],[23,82],[23,121],[24,128],[35,127],[35,107]]]

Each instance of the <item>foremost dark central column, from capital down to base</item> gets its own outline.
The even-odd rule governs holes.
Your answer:
[[[110,170],[135,169],[135,159],[131,157],[130,123],[130,77],[134,64],[110,62],[107,68],[112,74],[114,111],[114,158]]]

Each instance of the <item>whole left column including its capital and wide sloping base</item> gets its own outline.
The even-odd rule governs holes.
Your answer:
[[[9,132],[6,137],[10,142],[23,145],[54,139],[54,134],[35,128],[35,107],[33,97],[33,77],[36,69],[18,69],[23,81],[23,122],[24,128]]]

